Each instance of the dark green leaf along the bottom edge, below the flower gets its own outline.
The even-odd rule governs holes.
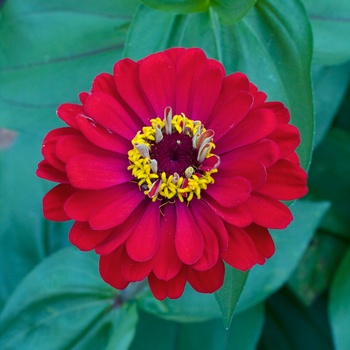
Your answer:
[[[140,313],[131,350],[254,350],[264,322],[263,305],[234,315],[225,330],[220,319],[200,323],[175,323]]]

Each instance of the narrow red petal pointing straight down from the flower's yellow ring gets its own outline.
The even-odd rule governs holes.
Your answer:
[[[157,278],[168,281],[179,273],[182,262],[177,256],[175,248],[175,207],[172,204],[167,204],[163,208],[160,222],[160,243],[153,272]]]

